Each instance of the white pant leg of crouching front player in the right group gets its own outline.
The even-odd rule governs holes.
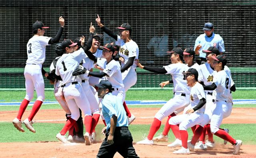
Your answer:
[[[204,116],[204,113],[191,113],[190,115],[186,115],[185,119],[180,123],[179,129],[180,130],[187,130],[194,125],[198,125]]]

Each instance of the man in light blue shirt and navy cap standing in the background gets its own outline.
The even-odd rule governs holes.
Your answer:
[[[220,54],[225,52],[224,41],[222,37],[218,34],[215,34],[213,24],[208,22],[204,24],[204,34],[201,34],[196,38],[194,51],[196,55],[199,55],[201,59],[201,64],[206,62],[206,54],[202,50],[207,50],[209,47],[216,47]]]

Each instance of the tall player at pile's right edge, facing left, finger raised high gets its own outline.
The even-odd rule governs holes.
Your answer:
[[[132,27],[128,23],[123,23],[119,29],[119,35],[116,35],[101,23],[100,16],[97,15],[96,22],[100,28],[107,33],[110,37],[116,40],[116,45],[120,45],[119,55],[124,58],[124,62],[121,62],[122,80],[124,83],[125,92],[128,91],[137,82],[136,64],[134,59],[139,57],[139,48],[136,42],[134,42],[130,36],[132,35]],[[124,102],[124,109],[129,117],[129,124],[135,119]]]

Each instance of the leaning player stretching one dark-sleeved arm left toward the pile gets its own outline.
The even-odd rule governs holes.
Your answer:
[[[137,66],[145,70],[155,72],[155,73],[161,73],[161,74],[171,74],[173,84],[174,84],[173,98],[167,101],[167,103],[164,104],[164,106],[156,113],[154,121],[150,127],[148,137],[145,140],[141,140],[137,142],[137,144],[147,144],[147,145],[154,144],[152,139],[156,131],[158,131],[158,129],[160,128],[162,119],[174,113],[175,110],[182,107],[184,108],[189,104],[190,88],[187,86],[186,79],[182,74],[182,72],[185,72],[188,70],[188,66],[186,66],[182,62],[183,50],[180,48],[174,48],[170,53],[172,53],[172,56],[171,56],[172,64],[168,66],[164,66],[162,68],[143,66],[142,64],[137,62]],[[179,130],[175,130],[175,131],[179,131]],[[174,135],[176,136],[176,138],[178,138],[179,137],[178,135],[180,135],[180,133],[178,134],[174,133]],[[161,137],[162,140],[168,141],[168,135],[161,135],[161,136],[162,136]],[[176,142],[174,144],[176,144]]]

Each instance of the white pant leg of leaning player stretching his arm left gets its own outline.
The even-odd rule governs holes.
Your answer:
[[[162,121],[165,117],[172,114],[176,109],[189,105],[189,95],[174,95],[164,106],[156,113],[155,118]]]

